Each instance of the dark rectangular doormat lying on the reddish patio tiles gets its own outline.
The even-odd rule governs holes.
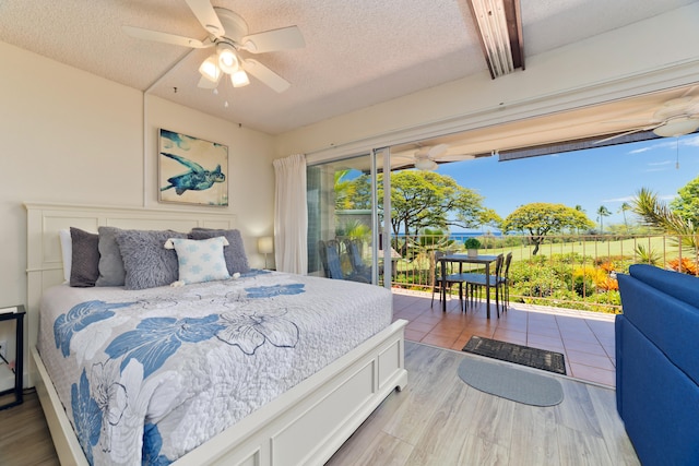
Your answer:
[[[566,359],[560,353],[531,348],[482,336],[472,336],[466,346],[463,347],[463,351],[566,374]]]

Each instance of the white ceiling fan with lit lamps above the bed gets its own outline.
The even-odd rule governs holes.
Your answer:
[[[259,61],[245,58],[241,52],[264,53],[288,50],[306,46],[297,26],[282,27],[257,34],[248,34],[248,25],[242,17],[230,10],[215,8],[210,0],[185,0],[194,16],[206,29],[204,40],[178,36],[135,26],[121,26],[128,35],[147,40],[156,40],[191,48],[214,48],[215,52],[199,67],[199,87],[213,89],[224,74],[230,76],[234,87],[250,84],[248,73],[277,93],[286,91],[291,83]]]

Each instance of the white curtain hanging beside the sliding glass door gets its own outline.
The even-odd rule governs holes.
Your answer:
[[[296,154],[274,160],[274,259],[276,270],[308,273],[308,211],[306,157]]]

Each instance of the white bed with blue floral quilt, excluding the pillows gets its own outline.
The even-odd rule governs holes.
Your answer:
[[[134,462],[133,457],[128,457],[123,452],[119,453],[115,446],[119,442],[133,441],[128,437],[129,432],[131,435],[134,434],[133,429],[119,427],[119,422],[126,422],[130,416],[130,413],[127,416],[123,409],[123,399],[128,398],[125,393],[130,386],[129,380],[133,380],[133,373],[138,374],[137,380],[141,382],[138,386],[146,386],[146,382],[152,381],[149,386],[159,386],[159,392],[169,396],[166,397],[169,404],[159,405],[144,401],[135,403],[135,395],[129,398],[133,406],[161,406],[147,413],[149,427],[141,426],[141,430],[137,429],[137,441],[146,439],[145,452],[154,463],[169,463],[168,455],[182,454],[174,463],[177,465],[322,464],[386,396],[395,389],[401,390],[406,383],[407,374],[403,365],[405,322],[391,323],[390,292],[370,285],[269,271],[251,271],[238,278],[174,288],[123,290],[122,287],[73,288],[60,285],[63,274],[58,231],[61,229],[71,226],[91,231],[97,231],[100,226],[176,231],[189,231],[192,228],[232,229],[235,227],[234,217],[202,214],[197,211],[34,203],[27,203],[25,206],[27,344],[32,354],[29,385],[37,387],[62,464],[88,464],[87,457],[95,463],[103,463],[105,458],[115,463],[117,458],[118,462],[123,461],[123,464]],[[346,300],[345,296],[352,296],[353,299]],[[308,298],[316,306],[303,301]],[[40,314],[42,300],[45,304]],[[173,314],[170,304],[176,301],[186,306],[183,310]],[[199,301],[205,301],[206,307],[197,306],[196,302]],[[352,307],[347,301],[359,306]],[[98,303],[97,311],[93,312],[95,302]],[[85,308],[91,309],[87,314],[84,313]],[[84,325],[85,322],[81,323],[80,319],[71,321],[71,311],[82,318],[88,315],[85,320],[87,325]],[[232,330],[232,325],[228,324],[233,321],[239,324],[239,320],[236,321],[233,316],[239,311],[248,316],[248,324]],[[360,313],[363,311],[365,314]],[[274,321],[276,324],[250,324],[261,322],[258,318],[265,312],[269,315],[265,314],[266,321]],[[254,319],[251,318],[253,315]],[[313,330],[311,316],[315,320],[320,318],[325,327],[321,325],[321,330]],[[177,323],[187,319],[188,324],[180,325],[180,328],[193,328],[191,335],[196,337],[185,335],[176,342],[175,349],[171,338],[162,339],[168,342],[165,345],[165,357],[162,345],[159,353],[155,351],[159,357],[151,357],[152,348],[146,348],[147,350],[139,356],[138,351],[129,350],[132,345],[123,345],[125,340],[133,343],[134,335],[143,338],[145,333],[139,333],[139,330],[150,328],[149,332],[152,332],[155,328],[155,332],[159,332],[168,324],[177,326]],[[68,321],[73,323],[66,324]],[[353,328],[358,321],[369,323],[367,327],[359,330],[359,333]],[[39,326],[42,339],[38,339]],[[254,334],[254,337],[251,337],[251,334]],[[36,349],[37,342],[40,351]],[[292,349],[304,347],[315,353],[291,353]],[[144,354],[151,356],[143,356]],[[201,359],[199,362],[185,362],[188,360],[186,356],[189,357],[190,354],[203,355],[204,360],[209,362],[201,362]],[[250,365],[253,370],[236,374],[234,379],[252,378],[256,382],[229,386],[230,378],[226,378],[229,371],[233,371],[233,361],[249,360],[253,355],[261,358]],[[105,356],[108,356],[106,359],[109,361]],[[50,369],[59,374],[55,374],[52,380],[47,367],[54,367],[57,361],[68,358],[74,358],[76,362],[71,362],[69,370],[57,372],[56,369]],[[307,363],[309,359],[318,360],[319,366],[311,367]],[[271,368],[270,361],[282,361],[281,372],[261,369]],[[216,368],[212,372],[213,379],[201,379],[202,367],[206,365]],[[196,375],[186,375],[190,372],[185,372],[183,367],[187,367],[187,370],[193,368],[192,373]],[[103,390],[103,401],[109,397],[111,401],[102,405],[97,403],[104,408],[97,409],[104,415],[102,421],[90,420],[91,417],[81,411],[80,403],[67,402],[71,396],[72,399],[91,399],[85,396],[81,398],[81,393],[90,393],[86,385],[88,381],[103,379],[94,373],[90,379],[90,368],[93,368],[93,372],[94,368],[99,369],[99,377],[106,377],[103,373],[115,372],[122,375],[122,379],[116,382],[97,384],[110,387]],[[159,371],[168,375],[161,377]],[[174,383],[173,378],[179,382]],[[197,383],[193,385],[211,389],[210,392],[214,396],[206,401],[203,395],[192,392],[194,389],[186,384],[186,392],[191,396],[176,394],[173,387],[182,385],[182,379],[196,380]],[[220,379],[225,379],[226,383],[216,383]],[[167,380],[167,383],[163,382],[164,380]],[[225,390],[222,390],[222,386],[225,386]],[[250,393],[246,393],[246,386],[249,392],[256,394],[264,392],[263,396],[259,399],[253,396],[247,397]],[[250,386],[262,386],[264,390],[250,390]],[[152,392],[158,393],[158,389],[153,389]],[[237,395],[226,401],[224,395],[234,392]],[[99,397],[97,398],[99,402]],[[67,409],[63,408],[64,405],[68,406]],[[174,414],[169,417],[169,411],[162,407],[164,405],[176,407],[171,409]],[[208,421],[190,417],[194,411],[202,410],[210,414],[225,413],[218,416],[224,425],[215,427],[211,432],[203,432],[205,429],[193,429],[189,433],[182,430],[182,425],[205,425]],[[80,419],[87,421],[81,423]],[[78,429],[78,435],[71,420],[73,425],[82,426]],[[158,421],[162,422],[163,429],[180,427],[165,433],[155,429],[156,434],[153,435],[152,427],[158,426]],[[85,425],[93,426],[93,437],[85,434]],[[117,431],[117,434],[107,437],[107,431]],[[142,431],[146,432],[145,437],[142,435]],[[99,439],[94,441],[93,445],[90,439],[95,435]],[[182,440],[190,437],[196,438],[192,444],[182,446],[181,452],[174,453],[180,447]],[[87,442],[93,445],[92,449],[87,449],[87,456],[79,438],[83,444]],[[162,457],[155,454],[157,451],[154,451],[154,444],[162,449]]]

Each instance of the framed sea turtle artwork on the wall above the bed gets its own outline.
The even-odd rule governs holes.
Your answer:
[[[158,201],[228,205],[228,146],[158,130]]]

